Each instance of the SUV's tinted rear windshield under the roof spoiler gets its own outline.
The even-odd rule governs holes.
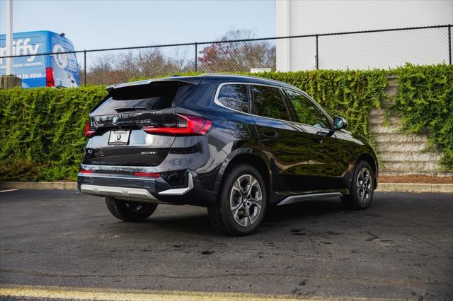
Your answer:
[[[188,89],[190,89],[190,85],[174,82],[117,88],[110,91],[108,97],[98,107],[95,107],[91,114],[104,115],[168,109],[182,102]]]

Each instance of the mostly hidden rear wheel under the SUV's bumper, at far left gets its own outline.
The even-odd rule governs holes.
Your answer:
[[[115,198],[106,197],[108,211],[127,222],[142,222],[149,218],[156,210],[156,203],[140,203],[135,201],[122,201]]]

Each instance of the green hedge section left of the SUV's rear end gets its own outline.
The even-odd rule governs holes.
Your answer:
[[[103,86],[0,90],[0,181],[76,179]]]

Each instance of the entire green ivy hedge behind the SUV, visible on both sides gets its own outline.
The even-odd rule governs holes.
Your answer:
[[[386,76],[401,77],[393,109],[406,128],[431,131],[453,170],[452,66],[406,66],[394,71],[270,72],[260,76],[305,90],[332,115],[348,119],[350,130],[372,139],[368,114],[385,97]],[[71,89],[0,90],[0,181],[76,179],[84,153],[88,112],[106,95],[104,86]]]

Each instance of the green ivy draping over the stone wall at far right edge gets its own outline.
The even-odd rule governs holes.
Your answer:
[[[392,111],[403,129],[425,132],[432,147],[443,153],[440,165],[453,172],[453,66],[413,66],[395,70],[398,93]]]

